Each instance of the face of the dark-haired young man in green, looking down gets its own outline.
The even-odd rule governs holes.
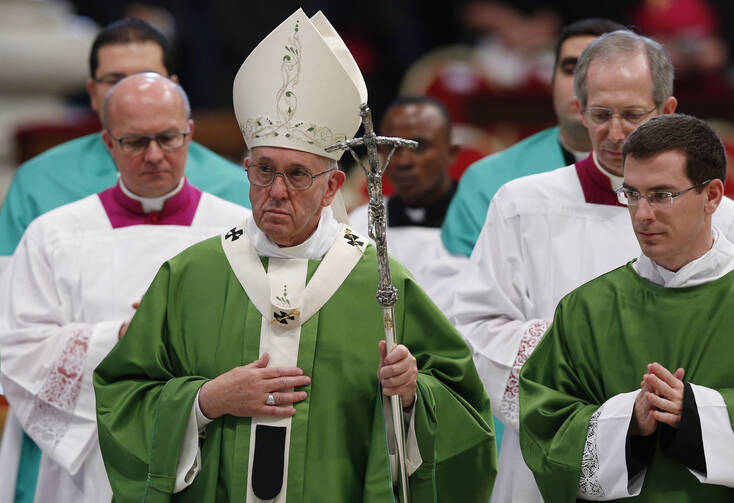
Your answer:
[[[627,156],[624,186],[643,195],[685,190],[694,185],[685,165],[686,157],[679,151],[661,152],[647,159]],[[651,206],[641,197],[637,206],[629,206],[629,212],[642,252],[671,271],[706,253],[711,244],[711,215],[722,193],[721,181],[713,180],[702,192],[693,189],[675,197],[671,206]]]

